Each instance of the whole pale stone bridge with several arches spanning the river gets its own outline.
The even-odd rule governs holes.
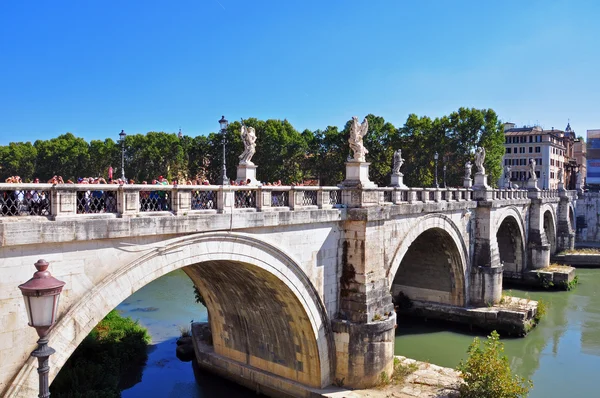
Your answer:
[[[8,397],[37,391],[37,337],[17,286],[39,258],[66,282],[51,379],[110,310],[183,268],[206,301],[214,366],[301,396],[391,374],[399,292],[487,307],[503,272],[547,267],[574,244],[570,191],[0,184],[0,194]]]

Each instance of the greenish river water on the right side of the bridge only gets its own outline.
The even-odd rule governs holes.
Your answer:
[[[600,270],[577,270],[580,284],[572,292],[512,294],[544,300],[548,313],[525,338],[503,339],[513,370],[531,378],[530,398],[593,397],[600,368]],[[400,323],[396,354],[455,367],[466,358],[474,334],[465,328],[434,323]]]

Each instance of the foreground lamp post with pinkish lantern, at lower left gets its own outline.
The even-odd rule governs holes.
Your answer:
[[[32,357],[38,359],[38,374],[40,381],[39,398],[47,398],[50,396],[50,384],[48,383],[48,373],[50,365],[48,358],[56,351],[48,346],[48,331],[56,322],[56,313],[58,312],[58,299],[65,282],[59,281],[50,275],[48,262],[38,260],[35,264],[37,272],[33,274],[33,278],[19,285],[23,299],[25,300],[25,308],[27,310],[27,318],[29,326],[34,327],[38,336],[38,347],[31,353]]]

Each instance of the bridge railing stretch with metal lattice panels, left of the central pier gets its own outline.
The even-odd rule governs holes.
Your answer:
[[[0,217],[327,209],[339,187],[0,184]]]

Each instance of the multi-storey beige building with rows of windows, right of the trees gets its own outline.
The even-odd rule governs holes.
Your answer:
[[[506,178],[508,166],[510,182],[513,185],[524,187],[530,177],[529,163],[534,159],[538,188],[557,189],[558,170],[561,168],[563,169],[565,188],[568,188],[573,156],[569,156],[567,149],[573,151],[573,140],[571,139],[573,133],[570,131],[570,126],[567,127],[569,131],[543,130],[539,126],[515,127],[514,123],[505,123],[505,153],[502,160],[504,177],[500,185],[506,186],[508,183]],[[565,162],[567,163],[565,164]],[[569,170],[569,175],[567,175],[567,170]]]

